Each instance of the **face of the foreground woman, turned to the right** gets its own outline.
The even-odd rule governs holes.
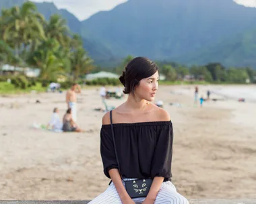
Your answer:
[[[139,81],[139,85],[135,87],[135,96],[146,101],[154,101],[156,91],[158,90],[158,81],[158,71],[151,77],[141,79],[141,81]]]

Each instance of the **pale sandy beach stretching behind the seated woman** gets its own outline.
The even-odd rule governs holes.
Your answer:
[[[194,87],[160,86],[156,95],[174,125],[172,182],[187,198],[255,198],[256,103],[212,94],[220,101],[199,107],[199,101],[193,102]],[[200,85],[199,96],[230,87],[256,90]],[[107,103],[117,107],[124,101]],[[62,117],[65,93],[0,97],[0,199],[92,199],[108,186],[100,158],[104,113],[94,111],[104,105],[96,88],[79,95],[77,121],[86,133],[32,128],[46,125],[54,107]]]

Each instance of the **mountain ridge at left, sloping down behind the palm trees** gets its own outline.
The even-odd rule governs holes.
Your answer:
[[[15,5],[22,5],[27,0],[0,0],[0,10],[5,8],[9,9]],[[35,3],[35,2],[34,2]],[[43,2],[35,3],[39,13],[44,15],[45,19],[49,19],[53,14],[59,14],[67,21],[71,32],[75,34],[81,34],[82,22],[75,17],[72,13],[66,9],[58,9],[54,3]],[[99,40],[91,40],[88,37],[83,38],[84,48],[88,51],[88,54],[94,58],[94,60],[102,60],[113,58],[112,51],[104,46]]]

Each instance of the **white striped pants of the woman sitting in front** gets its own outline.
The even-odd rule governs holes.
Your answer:
[[[132,178],[125,178],[125,181],[133,180]],[[123,185],[125,183],[123,182]],[[133,201],[140,204],[145,200],[145,197],[135,198]],[[114,183],[111,183],[104,193],[98,195],[89,204],[122,204],[122,201],[117,193]],[[162,183],[160,191],[156,197],[155,204],[189,204],[189,201],[181,194],[177,193],[176,188],[170,181]]]

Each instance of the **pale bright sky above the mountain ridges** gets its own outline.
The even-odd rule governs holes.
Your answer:
[[[36,2],[49,1],[55,3],[59,9],[67,9],[79,20],[84,20],[98,11],[108,11],[128,0],[32,0]],[[207,0],[214,1],[214,0]],[[232,0],[230,0],[232,1]],[[233,0],[247,7],[256,7],[256,0]]]

